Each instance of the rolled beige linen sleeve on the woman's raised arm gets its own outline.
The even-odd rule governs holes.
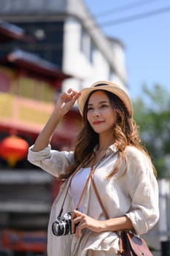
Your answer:
[[[73,152],[55,151],[50,145],[38,152],[32,151],[32,148],[33,146],[28,149],[28,161],[53,176],[58,177],[64,173],[66,167],[72,163]]]

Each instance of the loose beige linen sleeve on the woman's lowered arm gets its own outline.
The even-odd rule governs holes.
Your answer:
[[[154,176],[150,161],[142,153],[131,156],[128,165],[129,195],[131,211],[126,216],[138,235],[147,233],[159,218],[158,182]]]

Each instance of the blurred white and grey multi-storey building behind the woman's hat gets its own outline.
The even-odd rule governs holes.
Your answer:
[[[20,44],[23,50],[73,75],[64,81],[64,89],[81,89],[96,80],[127,86],[123,44],[102,33],[82,0],[0,0],[0,7],[1,20],[36,38],[33,44]]]

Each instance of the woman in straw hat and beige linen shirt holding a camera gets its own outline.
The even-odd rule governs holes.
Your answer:
[[[84,124],[74,152],[52,151],[50,138],[76,100]],[[99,81],[80,92],[69,89],[59,97],[52,116],[28,153],[31,163],[65,181],[50,213],[48,256],[117,255],[117,231],[133,229],[140,235],[158,221],[155,170],[139,143],[132,111],[128,94],[109,81]],[[92,165],[93,181],[108,219],[91,180],[80,208],[75,210]],[[72,173],[74,177],[69,184]],[[73,212],[72,233],[76,227],[75,234],[54,236],[52,225],[62,204],[63,214]]]

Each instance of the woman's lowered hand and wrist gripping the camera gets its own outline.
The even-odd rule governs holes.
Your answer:
[[[72,233],[74,233],[74,229],[76,227],[76,236],[77,238],[82,235],[83,228],[88,228],[89,230],[93,230],[94,232],[101,232],[102,229],[102,221],[97,219],[93,219],[86,214],[82,214],[80,211],[74,210],[72,213]]]

